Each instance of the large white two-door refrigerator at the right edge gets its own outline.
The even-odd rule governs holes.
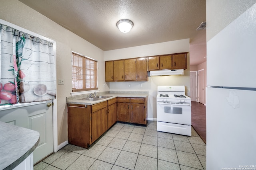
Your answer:
[[[256,169],[256,4],[207,42],[206,169]]]

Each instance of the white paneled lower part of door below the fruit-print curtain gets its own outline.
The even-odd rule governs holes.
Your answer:
[[[0,111],[0,121],[40,133],[39,144],[33,152],[34,164],[53,152],[52,106],[46,106],[47,103],[51,104],[52,100],[33,105],[21,104]]]

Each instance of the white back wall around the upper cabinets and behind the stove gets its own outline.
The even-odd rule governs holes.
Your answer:
[[[128,59],[135,57],[146,57],[153,55],[163,55],[172,53],[181,53],[189,51],[189,39],[177,41],[168,41],[150,45],[142,45],[124,49],[104,51],[104,60]],[[188,61],[189,63],[189,53]],[[139,84],[142,84],[142,88]],[[172,76],[152,76],[148,82],[108,82],[106,83],[110,90],[129,90],[129,91],[148,91],[148,118],[156,120],[156,93],[157,86],[160,85],[184,85],[186,86],[186,95],[190,96],[190,69],[184,70],[184,75]],[[129,84],[131,87],[129,87]]]

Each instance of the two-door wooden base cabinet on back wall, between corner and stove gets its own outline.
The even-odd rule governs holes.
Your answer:
[[[146,125],[148,122],[147,98],[117,98],[117,120]]]

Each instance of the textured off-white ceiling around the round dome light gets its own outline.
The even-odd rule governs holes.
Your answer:
[[[19,0],[104,51],[190,38],[190,64],[206,61],[206,0]],[[128,33],[116,27],[132,20]]]

